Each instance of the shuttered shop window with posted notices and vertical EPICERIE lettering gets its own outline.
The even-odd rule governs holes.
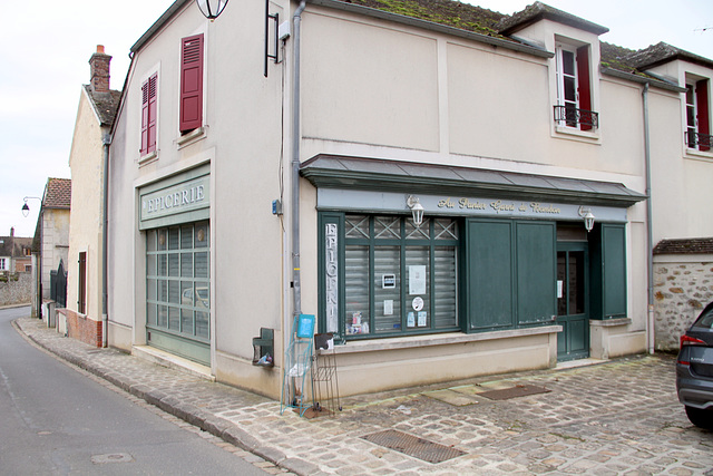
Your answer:
[[[323,214],[322,328],[346,339],[457,330],[458,224]]]

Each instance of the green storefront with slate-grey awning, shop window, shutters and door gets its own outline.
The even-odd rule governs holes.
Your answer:
[[[626,317],[627,208],[643,195],[621,184],[336,156],[302,174],[318,191],[319,326],[342,342],[560,326],[572,360],[589,356],[590,320]]]

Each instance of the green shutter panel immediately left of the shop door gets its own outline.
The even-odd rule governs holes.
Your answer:
[[[518,222],[518,326],[550,322],[556,312],[556,229],[554,223]]]

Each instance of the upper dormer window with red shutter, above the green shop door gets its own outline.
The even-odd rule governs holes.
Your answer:
[[[579,130],[596,129],[599,126],[599,115],[592,110],[589,46],[558,43],[556,60],[555,123]]]

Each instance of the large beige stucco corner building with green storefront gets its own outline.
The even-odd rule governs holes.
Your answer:
[[[275,398],[299,314],[342,394],[653,349],[647,163],[656,188],[686,153],[681,78],[541,3],[463,6],[476,31],[359,3],[270,2],[265,32],[179,0],[131,48],[108,343]]]

